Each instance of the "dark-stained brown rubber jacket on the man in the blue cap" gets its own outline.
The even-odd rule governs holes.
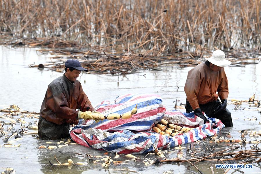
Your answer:
[[[93,111],[89,98],[82,90],[81,83],[71,82],[65,74],[53,80],[47,88],[40,116],[47,121],[61,125],[78,124],[78,111]]]

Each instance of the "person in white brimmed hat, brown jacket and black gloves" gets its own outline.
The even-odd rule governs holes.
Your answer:
[[[233,127],[231,113],[226,108],[228,80],[224,70],[231,62],[226,60],[225,53],[221,50],[214,51],[206,60],[188,71],[184,87],[187,96],[186,111],[194,111],[204,123],[209,120],[202,111],[208,117],[220,119],[226,127]]]

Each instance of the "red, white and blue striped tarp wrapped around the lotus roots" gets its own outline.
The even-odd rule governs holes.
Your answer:
[[[166,112],[162,98],[155,94],[121,95],[113,102],[103,101],[95,109],[104,115],[123,114],[131,111],[136,104],[138,112],[129,119],[103,120],[98,123],[81,119],[71,130],[71,138],[82,146],[111,153],[142,154],[153,151],[153,145],[165,149],[213,136],[224,127],[224,124],[215,118],[208,118],[210,123],[203,124],[203,120],[195,116],[194,112]],[[151,131],[163,116],[164,119],[172,120],[171,123],[176,120],[176,124],[193,129],[175,137]]]

